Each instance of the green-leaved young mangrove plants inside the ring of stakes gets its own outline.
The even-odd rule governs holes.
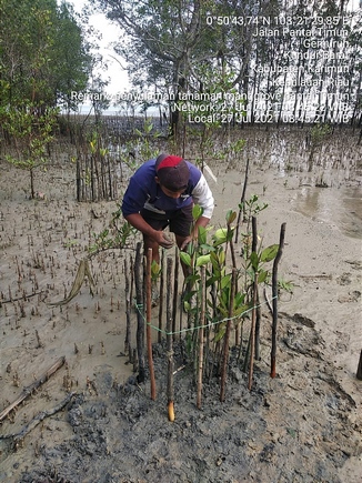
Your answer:
[[[267,208],[267,204],[257,205],[258,197],[253,197],[248,203],[248,213],[258,213]],[[193,208],[194,221],[202,214],[200,207]],[[229,210],[227,213],[227,227],[218,229],[208,240],[205,228],[199,228],[199,235],[195,243],[190,243],[187,251],[180,252],[180,259],[189,269],[189,276],[185,280],[188,291],[183,298],[185,311],[191,315],[191,329],[187,334],[187,348],[193,360],[194,368],[200,368],[197,361],[198,354],[204,358],[204,371],[210,376],[221,375],[220,399],[225,396],[227,365],[231,331],[235,331],[235,345],[241,348],[243,343],[242,326],[245,319],[251,318],[251,330],[245,361],[251,358],[250,381],[252,379],[252,366],[254,359],[259,359],[259,333],[260,318],[257,318],[259,301],[259,284],[269,282],[271,272],[268,263],[275,259],[279,245],[272,244],[263,248],[258,245],[255,233],[255,218],[251,217],[253,231],[243,234],[243,256],[237,260],[233,245],[234,227],[237,212]],[[210,238],[210,237],[209,237]],[[239,262],[240,260],[240,262]],[[202,271],[204,273],[202,274]],[[203,290],[207,290],[205,311],[202,308]],[[202,320],[201,320],[202,314]],[[202,338],[197,333],[203,331]],[[241,335],[240,335],[241,332]],[[200,351],[198,344],[204,344]],[[200,371],[198,372],[198,384],[200,386]],[[251,386],[251,383],[249,383]],[[200,400],[200,394],[199,394]]]

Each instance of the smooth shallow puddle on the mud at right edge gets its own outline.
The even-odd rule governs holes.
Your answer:
[[[295,211],[362,239],[362,188],[301,187],[291,201]]]

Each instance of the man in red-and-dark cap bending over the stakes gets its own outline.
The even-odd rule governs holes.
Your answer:
[[[194,227],[193,204],[203,209]],[[160,263],[159,246],[173,245],[163,233],[167,227],[174,233],[179,249],[184,250],[190,241],[197,240],[199,227],[207,227],[213,208],[213,195],[202,172],[191,162],[164,153],[135,171],[122,202],[124,219],[142,232],[144,250],[152,249],[157,263]]]

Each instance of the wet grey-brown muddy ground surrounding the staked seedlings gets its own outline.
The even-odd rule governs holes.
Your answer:
[[[249,140],[249,154],[260,149],[258,135]],[[115,203],[76,202],[74,165],[58,158],[37,172],[40,195],[29,200],[28,173],[0,161],[0,411],[66,359],[3,421],[0,481],[362,481],[362,382],[355,378],[362,348],[361,148],[351,137],[340,163],[309,171],[286,167],[288,142],[278,149],[271,135],[262,141],[271,149],[251,163],[249,194],[269,203],[259,218],[264,245],[278,243],[286,222],[280,276],[294,286],[279,301],[278,376],[269,376],[271,315],[263,300],[251,391],[242,368],[248,321],[240,360],[231,349],[223,403],[213,376],[197,409],[187,350],[178,342],[173,423],[164,341],[153,333],[155,401],[149,380],[137,383],[124,354],[123,260],[132,249],[92,260],[93,295],[83,286],[69,304],[49,305],[69,293],[92,233],[108,225]],[[211,165],[215,228],[238,207],[243,167]],[[321,170],[328,188],[319,183]],[[132,312],[133,346],[134,336]]]

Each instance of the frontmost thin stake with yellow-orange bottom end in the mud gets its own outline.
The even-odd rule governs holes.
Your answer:
[[[174,421],[173,409],[173,346],[172,346],[172,264],[173,260],[168,258],[167,262],[167,356],[168,356],[168,412],[169,420]]]

